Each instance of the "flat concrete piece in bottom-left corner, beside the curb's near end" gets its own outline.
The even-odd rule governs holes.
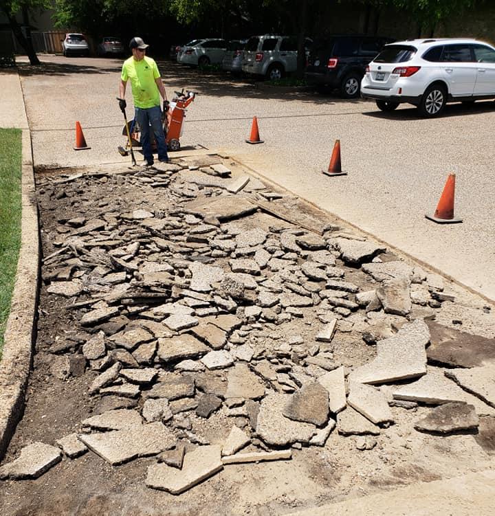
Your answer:
[[[61,459],[60,449],[43,442],[33,442],[21,449],[19,458],[0,467],[0,480],[38,478]]]

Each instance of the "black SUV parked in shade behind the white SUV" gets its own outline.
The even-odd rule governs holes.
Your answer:
[[[358,97],[366,65],[393,41],[379,36],[320,39],[309,54],[305,78],[310,85],[339,89],[344,98]]]

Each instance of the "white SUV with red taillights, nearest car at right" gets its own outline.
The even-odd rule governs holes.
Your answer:
[[[495,98],[495,48],[454,38],[386,45],[366,68],[361,95],[382,111],[414,104],[424,117],[439,115],[445,102]]]

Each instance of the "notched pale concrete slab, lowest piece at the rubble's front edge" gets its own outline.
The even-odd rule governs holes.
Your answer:
[[[220,452],[218,445],[200,446],[186,453],[180,471],[167,464],[153,464],[148,467],[146,486],[173,495],[184,493],[223,469]]]

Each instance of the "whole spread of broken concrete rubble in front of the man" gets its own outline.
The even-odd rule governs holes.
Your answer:
[[[219,161],[39,185],[67,215],[44,229],[43,295],[75,328],[53,342],[52,374],[85,377],[94,415],[23,449],[0,478],[89,449],[115,466],[153,457],[146,485],[179,494],[228,464],[325,446],[332,431],[371,449],[393,410],[418,403],[432,410],[416,429],[439,435],[495,414],[494,339],[485,361],[454,368],[432,339],[445,329],[435,313],[455,302],[439,276]]]

